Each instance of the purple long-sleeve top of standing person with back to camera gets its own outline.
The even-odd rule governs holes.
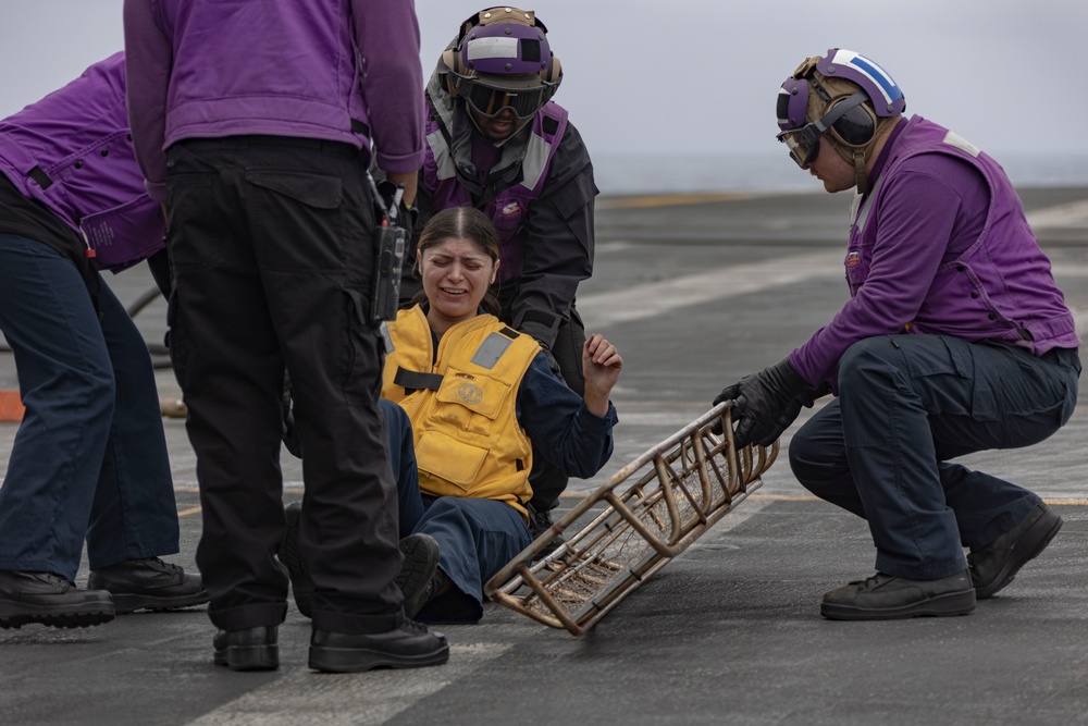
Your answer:
[[[186,138],[373,141],[378,165],[423,161],[412,0],[126,0],[128,115],[157,200],[164,150]]]

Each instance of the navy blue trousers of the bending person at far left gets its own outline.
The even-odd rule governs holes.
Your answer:
[[[177,505],[147,345],[100,281],[0,234],[0,330],[26,411],[0,488],[0,569],[75,578],[177,552]]]

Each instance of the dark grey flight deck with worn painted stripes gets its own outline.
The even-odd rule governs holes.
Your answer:
[[[1088,189],[1022,195],[1084,336]],[[579,308],[625,357],[620,424],[614,459],[572,482],[566,506],[838,309],[848,204],[823,194],[602,200],[596,274]],[[151,284],[143,270],[110,283],[124,300]],[[156,303],[137,316],[148,340],[161,339],[162,315]],[[0,387],[14,380],[0,355]],[[169,369],[159,383],[176,395]],[[193,567],[194,456],[183,421],[163,423],[183,532],[171,559]],[[0,423],[0,468],[15,428]],[[489,605],[480,625],[443,628],[445,666],[342,676],[306,667],[309,623],[294,605],[283,665],[263,674],[212,665],[203,608],[79,630],[26,626],[0,631],[0,724],[1088,723],[1086,429],[1083,403],[1042,444],[965,459],[1035,489],[1065,518],[1046,553],[966,617],[821,619],[820,594],[871,574],[873,546],[865,522],[807,496],[783,456],[585,637]],[[284,473],[285,499],[299,497],[300,467],[286,454]]]

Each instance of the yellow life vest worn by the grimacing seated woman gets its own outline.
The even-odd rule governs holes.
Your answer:
[[[386,333],[382,396],[411,420],[420,491],[500,500],[528,516],[532,444],[516,404],[540,344],[479,315],[447,330],[435,352],[418,305],[398,312]]]

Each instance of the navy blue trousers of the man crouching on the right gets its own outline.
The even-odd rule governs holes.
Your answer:
[[[1038,502],[1026,489],[949,459],[1038,443],[1073,415],[1075,350],[1042,357],[1003,343],[881,336],[839,362],[839,397],[790,444],[811,492],[864,517],[878,571],[939,579]]]

